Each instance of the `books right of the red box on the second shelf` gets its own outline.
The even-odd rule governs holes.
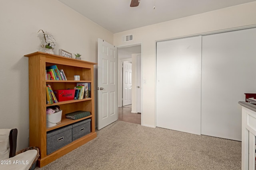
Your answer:
[[[90,83],[77,83],[76,87],[74,87],[76,90],[74,100],[91,98],[90,85]]]

